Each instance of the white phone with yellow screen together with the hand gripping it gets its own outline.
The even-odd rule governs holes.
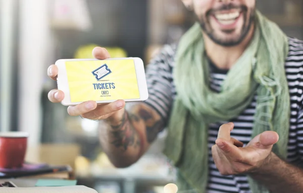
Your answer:
[[[61,102],[64,105],[70,105],[68,113],[72,116],[81,115],[88,119],[107,119],[110,117],[113,122],[118,122],[122,119],[125,102],[143,101],[148,97],[143,64],[136,63],[134,59],[131,63],[129,60],[132,59],[130,58],[120,59],[120,62],[118,59],[109,59],[108,51],[100,47],[93,49],[93,55],[98,60],[89,60],[89,62],[59,60],[57,65],[50,66],[47,74],[53,80],[57,80],[59,89],[50,91],[48,99],[55,103]],[[121,61],[125,60],[128,60],[126,71],[130,71],[131,75],[129,73],[123,74],[125,69],[123,69],[123,62],[121,63]],[[118,72],[120,69],[121,72],[118,77],[115,75],[116,69]],[[86,72],[85,75],[81,76],[84,71]],[[107,74],[109,71],[111,73]],[[133,87],[128,87],[127,81],[115,80],[127,76],[130,76],[131,85],[135,85],[134,82],[137,83],[135,91],[133,91]],[[125,87],[118,89],[117,87],[121,85]],[[124,95],[123,93],[129,92],[127,88],[132,91]],[[114,89],[115,91],[113,91]],[[108,92],[103,93],[102,91]],[[119,96],[121,98],[118,98]]]

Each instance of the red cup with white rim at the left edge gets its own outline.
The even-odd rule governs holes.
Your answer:
[[[0,168],[23,166],[28,133],[0,132]]]

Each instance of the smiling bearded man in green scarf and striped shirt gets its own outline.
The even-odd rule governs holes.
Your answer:
[[[149,64],[147,101],[127,110],[122,100],[89,101],[69,114],[103,120],[100,143],[117,167],[135,163],[167,128],[165,154],[181,190],[303,192],[303,42],[255,0],[183,3],[198,22]],[[99,47],[93,55],[110,57]],[[51,66],[48,76],[57,72]],[[60,102],[64,93],[48,96]]]

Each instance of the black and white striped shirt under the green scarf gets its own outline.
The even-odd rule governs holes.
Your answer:
[[[176,96],[172,70],[175,66],[176,45],[166,45],[146,68],[146,80],[149,98],[146,104],[153,107],[167,121]],[[211,65],[210,87],[220,92],[227,71],[217,69]],[[303,41],[289,38],[289,54],[285,62],[285,71],[291,100],[291,117],[289,128],[288,161],[294,164],[303,163]],[[256,96],[257,97],[257,96]],[[230,120],[234,122],[231,137],[246,145],[251,140],[252,125],[256,112],[256,97],[240,116]],[[208,192],[250,192],[245,175],[222,176],[212,158],[211,147],[215,144],[221,124],[210,125],[209,129],[209,183]]]

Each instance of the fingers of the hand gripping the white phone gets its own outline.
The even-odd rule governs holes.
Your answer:
[[[110,57],[109,52],[102,47],[95,47],[92,54],[96,59],[107,59]],[[47,70],[48,77],[57,80],[58,68],[56,65],[49,66]],[[58,89],[54,89],[48,93],[48,99],[51,102],[58,103],[64,99],[64,93]],[[100,120],[110,119],[112,122],[119,122],[124,114],[125,102],[117,100],[109,104],[99,104],[95,101],[87,101],[76,106],[69,106],[68,113],[71,116],[81,115],[83,118]]]

